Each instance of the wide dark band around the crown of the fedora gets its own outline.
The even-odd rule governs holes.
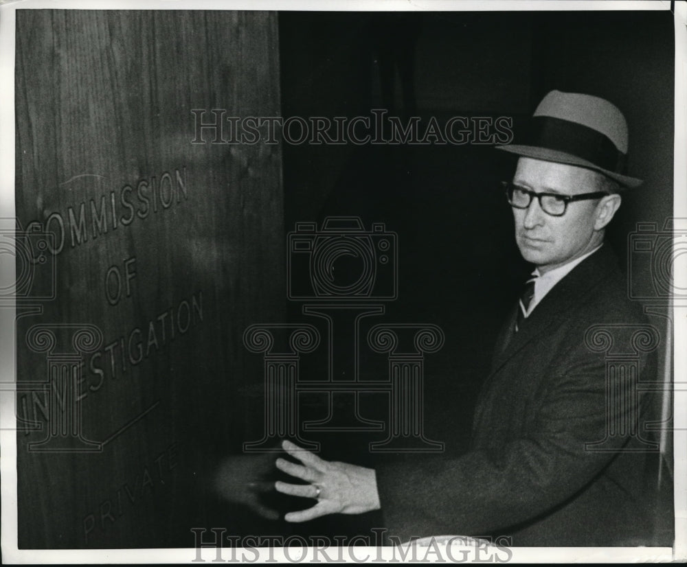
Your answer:
[[[525,144],[572,154],[613,173],[624,173],[627,165],[627,155],[606,135],[552,116],[532,117]]]

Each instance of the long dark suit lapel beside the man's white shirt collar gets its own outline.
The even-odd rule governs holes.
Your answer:
[[[513,321],[509,319],[509,323],[506,323],[502,329],[497,342],[492,373],[547,329],[558,327],[568,318],[570,310],[578,305],[598,281],[605,278],[611,270],[617,269],[616,255],[608,244],[604,244],[599,251],[575,266],[569,274],[556,283],[530,316],[522,322],[521,328],[515,334],[511,330],[515,321],[515,308],[513,308],[510,315]],[[508,340],[509,336],[510,340]]]

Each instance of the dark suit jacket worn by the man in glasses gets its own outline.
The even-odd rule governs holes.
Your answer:
[[[637,378],[633,358],[642,380],[655,380],[657,340],[642,343],[637,334],[648,322],[627,299],[625,281],[605,244],[548,292],[515,336],[513,321],[504,325],[471,450],[377,467],[388,535],[507,535],[513,546],[651,544],[650,455],[631,435],[646,408],[627,380]],[[587,334],[592,325],[608,334]],[[620,376],[624,386],[608,354],[629,370]],[[607,375],[618,388],[610,394]],[[585,450],[605,438],[605,450]],[[630,448],[639,451],[618,451]]]

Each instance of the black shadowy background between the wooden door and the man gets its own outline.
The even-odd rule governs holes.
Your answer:
[[[517,130],[552,89],[606,97],[629,123],[629,174],[645,180],[623,196],[607,231],[627,270],[628,233],[637,222],[662,229],[673,207],[672,26],[670,12],[283,12],[282,114],[370,116],[383,108],[425,125],[430,117],[440,124],[453,116],[512,117]],[[444,347],[426,360],[425,430],[446,443],[447,454],[462,452],[495,334],[531,269],[521,262],[499,189],[516,158],[471,143],[283,150],[287,230],[353,215],[365,227],[385,222],[398,233],[400,294],[379,321],[444,329]],[[651,279],[650,270],[635,265],[633,277]],[[291,319],[300,309],[289,304]],[[655,323],[665,328],[664,320]],[[372,358],[362,370],[371,379],[385,373]],[[383,398],[376,403],[365,417],[383,419]],[[312,437],[331,459],[418,458],[370,456],[367,443],[383,439],[379,433]],[[365,521],[381,523],[370,516],[313,522],[308,530],[353,533]]]

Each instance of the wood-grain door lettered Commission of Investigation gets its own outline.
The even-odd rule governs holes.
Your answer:
[[[276,14],[17,11],[16,214],[52,252],[17,260],[43,308],[17,323],[18,380],[45,382],[17,395],[41,427],[17,435],[20,548],[192,546],[203,479],[256,420],[242,336],[283,317],[281,152],[192,143],[192,109],[213,108],[279,114]],[[68,418],[49,382],[65,324],[102,334],[66,374],[93,452],[36,451]],[[34,325],[63,325],[52,354]]]

